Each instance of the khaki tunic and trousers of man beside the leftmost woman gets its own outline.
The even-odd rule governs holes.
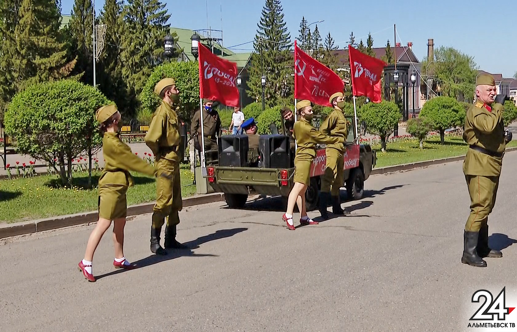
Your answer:
[[[156,203],[153,211],[169,216],[168,223],[179,224],[178,211],[183,208],[181,183],[179,177],[179,156],[177,154],[181,137],[176,110],[162,102],[151,118],[145,143],[156,157],[155,168],[171,176],[172,179],[159,177],[156,181]],[[162,220],[163,221],[163,220]],[[155,225],[156,226],[156,225]],[[161,227],[161,225],[159,225]]]

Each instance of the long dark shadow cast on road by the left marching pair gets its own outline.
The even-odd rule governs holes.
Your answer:
[[[184,257],[184,256],[188,256],[188,257],[218,257],[217,255],[211,255],[211,254],[195,254],[192,249],[196,249],[196,248],[199,248],[200,245],[202,245],[203,243],[207,243],[207,242],[210,242],[210,241],[215,241],[215,240],[219,240],[219,239],[224,239],[224,238],[230,238],[230,236],[233,236],[235,234],[238,234],[240,232],[244,232],[248,230],[248,228],[232,228],[232,229],[220,229],[218,231],[216,231],[215,233],[211,233],[211,234],[208,234],[208,235],[205,235],[205,236],[201,236],[200,238],[197,238],[193,241],[190,241],[190,242],[186,242],[184,243],[184,245],[186,245],[187,247],[189,247],[189,249],[168,249],[168,254],[165,255],[165,256],[159,256],[159,255],[150,255],[146,258],[143,258],[141,260],[138,260],[136,262],[132,262],[132,264],[136,265],[137,268],[141,268],[141,267],[146,267],[146,266],[150,266],[150,265],[154,265],[154,264],[157,264],[157,263],[161,263],[161,262],[164,262],[164,261],[169,261],[171,259],[175,259],[175,258],[178,258],[178,257]],[[100,275],[100,276],[96,276],[95,278],[96,279],[101,279],[101,278],[104,278],[104,277],[108,277],[108,276],[112,276],[112,275],[115,275],[115,274],[119,274],[119,273],[124,273],[128,270],[116,270],[116,271],[113,271],[113,272],[110,272],[110,273],[106,273],[106,274],[103,274],[103,275]]]

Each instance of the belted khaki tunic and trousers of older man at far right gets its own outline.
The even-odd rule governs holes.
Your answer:
[[[490,112],[481,102],[470,106],[465,117],[465,142],[469,146],[504,152],[506,144],[503,109],[503,105],[494,104]],[[466,231],[477,232],[481,224],[488,222],[488,216],[495,204],[502,164],[502,157],[467,149],[463,161],[463,172],[470,195],[470,214],[465,224]]]

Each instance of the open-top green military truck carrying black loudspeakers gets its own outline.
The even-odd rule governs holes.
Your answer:
[[[352,124],[349,126],[347,137],[347,150],[344,154],[345,181],[348,197],[353,200],[361,199],[363,196],[364,181],[366,181],[372,168],[375,166],[377,157],[375,151],[368,144],[358,144],[356,137],[354,117],[346,116]],[[319,127],[317,125],[317,127]],[[361,124],[361,134],[366,133],[366,124]],[[283,136],[281,134],[278,134]],[[237,136],[237,135],[236,135]],[[265,138],[276,135],[261,135]],[[287,137],[285,137],[287,138]],[[287,140],[287,147],[289,147]],[[221,144],[219,144],[219,162],[221,164]],[[285,149],[285,153],[291,154],[289,167],[245,167],[240,166],[207,166],[209,185],[215,192],[224,193],[226,203],[230,208],[242,208],[246,204],[248,195],[260,194],[267,196],[282,196],[284,203],[294,185],[294,151]],[[242,151],[246,153],[245,151]],[[317,208],[320,197],[321,176],[325,171],[326,156],[325,146],[318,145],[317,155],[311,165],[311,180],[306,192],[307,210]],[[261,157],[264,158],[262,151]],[[267,156],[265,156],[267,157]]]

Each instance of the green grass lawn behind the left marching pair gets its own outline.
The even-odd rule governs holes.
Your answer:
[[[134,186],[127,192],[129,205],[156,200],[156,180],[140,173],[132,173]],[[193,175],[189,165],[181,165],[181,195],[195,194]],[[51,216],[97,210],[97,181],[100,172],[93,177],[94,189],[86,189],[88,173],[75,173],[73,187],[62,187],[57,176],[38,176],[13,180],[0,180],[0,222],[20,222]]]

